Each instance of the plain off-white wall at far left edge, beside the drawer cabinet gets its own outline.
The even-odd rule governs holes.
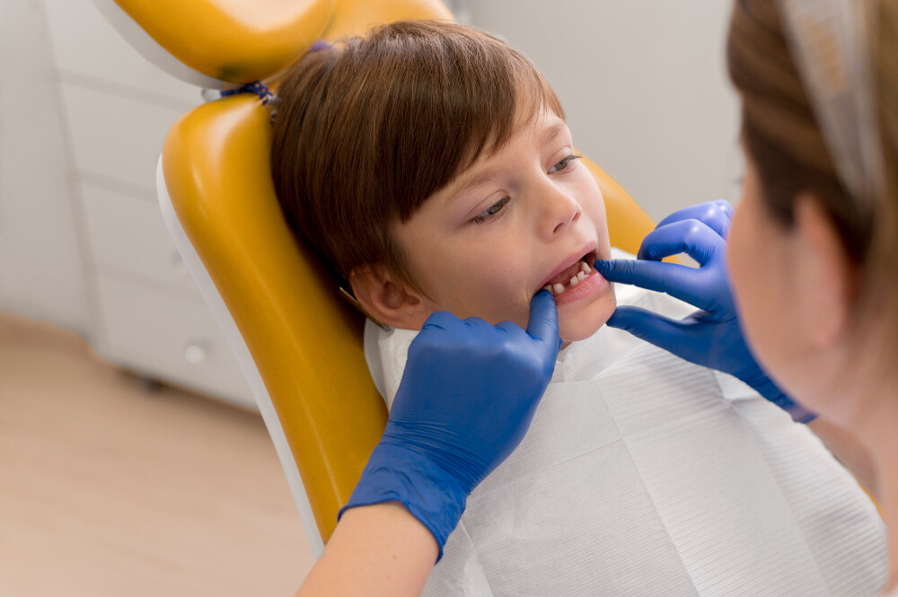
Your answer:
[[[91,314],[69,172],[41,4],[0,0],[0,309],[84,331]]]

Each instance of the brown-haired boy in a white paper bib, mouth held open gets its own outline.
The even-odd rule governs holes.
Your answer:
[[[726,399],[731,379],[603,328],[616,298],[591,268],[612,257],[602,195],[526,58],[471,28],[401,22],[310,52],[278,96],[278,198],[392,327],[365,332],[388,405],[435,311],[525,326],[549,287],[570,345],[426,594],[879,591],[882,523],[813,435],[753,392]]]

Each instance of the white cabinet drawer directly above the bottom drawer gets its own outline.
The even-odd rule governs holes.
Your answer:
[[[80,189],[92,258],[101,272],[127,270],[202,300],[155,201],[87,184]]]

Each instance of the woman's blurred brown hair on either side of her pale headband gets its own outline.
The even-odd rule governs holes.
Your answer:
[[[874,0],[868,31],[885,180],[870,210],[835,171],[789,54],[776,0],[736,0],[727,41],[730,78],[743,105],[743,135],[768,211],[791,225],[797,195],[812,191],[861,268],[858,322],[877,332],[881,363],[898,356],[898,3]],[[882,360],[887,359],[887,360]]]

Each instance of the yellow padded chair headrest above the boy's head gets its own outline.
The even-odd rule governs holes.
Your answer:
[[[265,81],[316,40],[377,23],[445,19],[439,0],[93,0],[146,59],[209,89]]]

